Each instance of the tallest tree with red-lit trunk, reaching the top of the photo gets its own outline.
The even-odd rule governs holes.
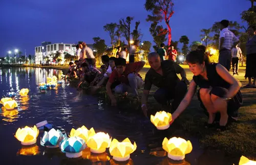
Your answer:
[[[147,21],[161,21],[164,19],[168,29],[168,46],[170,46],[172,43],[172,29],[169,20],[174,14],[173,0],[146,0],[144,7],[153,14],[153,16],[147,15]]]

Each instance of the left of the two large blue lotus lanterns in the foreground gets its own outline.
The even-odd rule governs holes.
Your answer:
[[[55,130],[52,128],[49,132],[45,131],[41,138],[41,146],[46,146],[47,148],[57,148],[59,143],[63,138],[67,137],[67,134],[62,134],[60,130]]]

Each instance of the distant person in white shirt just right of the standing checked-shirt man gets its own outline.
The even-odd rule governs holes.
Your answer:
[[[242,51],[238,47],[238,45],[236,45],[235,48],[231,49],[231,54],[232,54],[233,75],[236,75],[236,74],[238,75],[238,66],[239,66],[238,63],[239,63],[239,60],[243,60]]]

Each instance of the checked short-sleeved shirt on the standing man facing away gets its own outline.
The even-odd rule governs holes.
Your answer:
[[[225,40],[224,40],[221,48],[220,48],[220,45],[219,45],[219,50],[221,50],[222,48],[231,50],[231,47],[232,47],[233,43],[239,41],[238,37],[235,36],[233,34],[233,32],[228,30],[228,28],[224,28],[220,32],[220,38],[219,38],[220,43],[221,43],[221,38],[222,37],[224,37]]]

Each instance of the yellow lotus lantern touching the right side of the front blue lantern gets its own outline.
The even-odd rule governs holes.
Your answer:
[[[104,132],[92,132],[88,137],[87,146],[90,147],[92,153],[100,154],[106,151],[111,144],[110,135]]]

